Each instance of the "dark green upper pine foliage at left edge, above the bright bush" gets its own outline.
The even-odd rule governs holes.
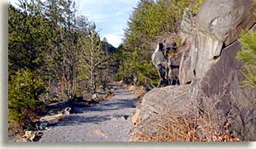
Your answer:
[[[28,16],[11,5],[8,12],[9,73],[21,68],[40,68],[44,63],[41,53],[45,50],[48,29],[45,20],[41,16]]]

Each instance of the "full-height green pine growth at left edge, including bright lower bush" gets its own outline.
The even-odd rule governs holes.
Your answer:
[[[26,3],[29,7],[34,5],[37,6],[35,3]],[[31,120],[36,111],[44,105],[39,101],[39,97],[45,91],[41,68],[45,63],[42,54],[47,49],[44,41],[47,39],[49,28],[36,6],[26,10],[8,6],[10,128],[31,128]]]

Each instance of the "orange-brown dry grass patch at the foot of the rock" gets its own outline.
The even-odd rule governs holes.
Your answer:
[[[159,124],[156,134],[148,132],[135,133],[133,141],[139,142],[239,142],[238,138],[229,133],[228,123],[220,133],[210,118],[195,114],[167,114],[164,123]]]

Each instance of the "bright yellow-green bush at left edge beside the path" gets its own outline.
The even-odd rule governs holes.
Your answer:
[[[13,126],[30,128],[37,110],[43,108],[39,96],[45,91],[44,81],[35,72],[19,70],[9,78],[8,121]]]

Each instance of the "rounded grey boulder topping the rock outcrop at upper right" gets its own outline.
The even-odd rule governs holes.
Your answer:
[[[222,42],[216,46],[213,56],[220,55],[221,44],[229,45],[237,40],[241,30],[254,25],[250,0],[208,0],[198,13],[198,29]]]

